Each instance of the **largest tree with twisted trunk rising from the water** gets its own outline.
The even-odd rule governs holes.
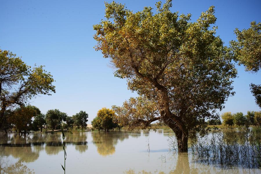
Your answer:
[[[163,121],[175,132],[179,151],[187,151],[189,133],[205,131],[201,119],[218,119],[216,109],[234,95],[231,79],[237,71],[229,48],[215,36],[216,27],[209,29],[216,21],[213,6],[194,23],[191,14],[179,16],[171,6],[171,0],[163,7],[158,2],[153,14],[151,7],[134,13],[120,3],[105,3],[106,20],[93,26],[95,49],[139,94],[114,107],[120,126]],[[143,112],[146,105],[154,110]]]

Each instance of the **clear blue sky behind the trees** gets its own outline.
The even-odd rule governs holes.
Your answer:
[[[116,2],[137,12],[145,6],[155,10],[157,1]],[[242,30],[249,28],[251,21],[261,21],[260,0],[173,0],[171,11],[191,13],[193,22],[210,6],[215,6],[217,35],[227,46],[236,39],[235,28]],[[30,101],[42,113],[57,108],[72,116],[84,110],[89,114],[90,124],[99,109],[121,106],[137,96],[127,89],[126,79],[114,77],[109,59],[93,48],[96,44],[93,25],[105,19],[104,10],[104,0],[1,1],[0,49],[12,51],[27,65],[45,65],[55,79],[56,93]],[[236,67],[238,78],[233,83],[236,94],[228,98],[219,113],[261,110],[249,89],[251,83],[260,84],[261,72],[253,74],[245,72],[243,66]]]

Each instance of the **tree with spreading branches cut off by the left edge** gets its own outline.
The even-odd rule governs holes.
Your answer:
[[[38,94],[55,93],[54,79],[43,68],[31,68],[12,52],[0,50],[0,128],[6,110],[23,106]]]

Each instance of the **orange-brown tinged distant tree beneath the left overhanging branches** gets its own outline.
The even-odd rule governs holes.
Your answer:
[[[35,106],[22,106],[14,110],[10,120],[14,124],[16,130],[19,133],[30,131],[32,126],[32,117],[38,115],[40,110]]]

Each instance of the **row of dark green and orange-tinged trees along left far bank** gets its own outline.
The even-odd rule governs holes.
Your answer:
[[[14,128],[17,133],[26,134],[28,131],[41,131],[43,128],[48,128],[52,131],[60,129],[61,124],[64,128],[84,129],[87,126],[88,114],[85,111],[80,111],[72,117],[59,109],[51,109],[46,114],[41,113],[36,106],[21,106],[14,110],[6,110],[5,120],[2,129],[7,133],[7,130]]]

